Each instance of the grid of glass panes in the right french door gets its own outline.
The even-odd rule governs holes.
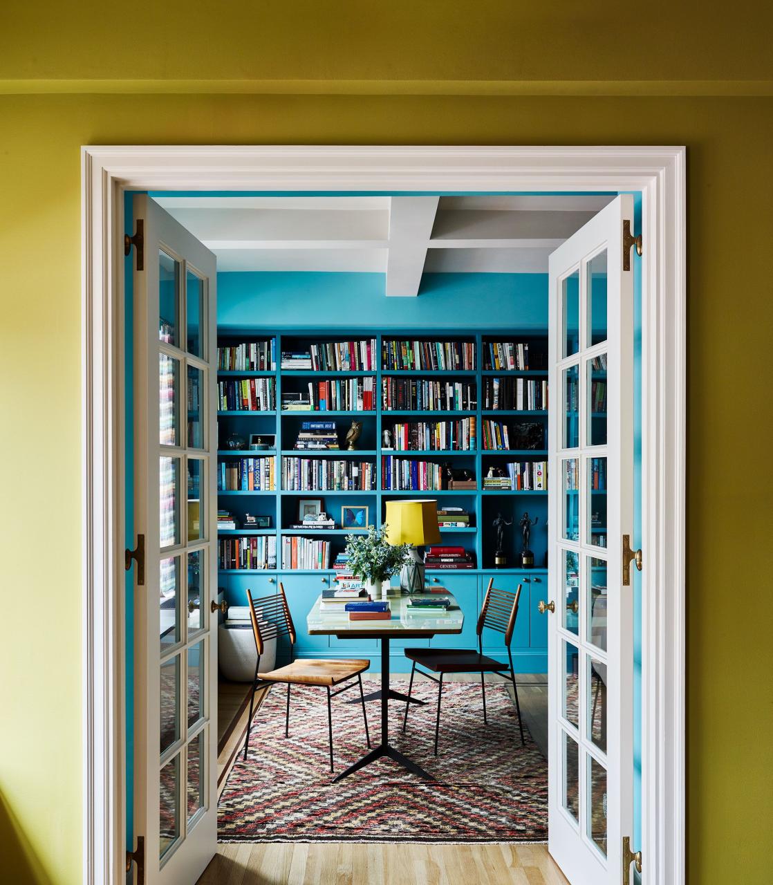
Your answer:
[[[560,281],[562,805],[607,857],[607,251]]]

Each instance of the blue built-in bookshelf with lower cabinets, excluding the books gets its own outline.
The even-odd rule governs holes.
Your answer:
[[[403,364],[394,367],[390,359],[383,358],[385,342],[391,341],[419,342],[450,342],[465,348],[467,362],[453,368],[408,367]],[[333,369],[282,368],[282,352],[305,352],[312,343],[367,341],[371,345],[372,367],[356,370],[336,371]],[[463,335],[451,331],[438,331],[428,335],[426,329],[421,331],[406,329],[398,332],[390,330],[383,334],[377,331],[362,329],[340,329],[331,332],[329,329],[315,334],[312,331],[298,332],[293,330],[265,330],[259,328],[229,328],[228,332],[220,330],[219,346],[234,347],[244,342],[271,342],[274,351],[274,366],[248,371],[220,370],[218,380],[251,381],[262,385],[263,411],[231,411],[219,408],[218,411],[218,462],[220,465],[234,465],[241,458],[274,458],[273,489],[258,491],[221,490],[219,492],[219,508],[226,510],[236,519],[235,529],[219,531],[219,547],[222,542],[234,543],[239,538],[250,538],[252,543],[265,544],[273,539],[276,550],[276,565],[257,569],[220,567],[219,584],[229,604],[243,604],[244,589],[250,588],[253,594],[272,592],[279,581],[282,581],[290,601],[293,617],[298,626],[305,626],[305,615],[314,598],[324,586],[335,581],[333,562],[336,553],[344,550],[346,535],[351,529],[342,527],[342,508],[349,506],[366,506],[368,522],[381,525],[385,517],[386,503],[390,500],[422,497],[437,498],[438,507],[461,507],[469,514],[468,527],[441,528],[444,545],[459,546],[467,551],[474,560],[472,569],[433,571],[428,569],[428,581],[451,590],[465,609],[465,630],[460,636],[444,637],[444,645],[470,646],[475,644],[475,618],[483,593],[491,575],[495,584],[503,589],[514,589],[522,584],[522,611],[515,628],[514,650],[521,672],[545,672],[546,628],[545,618],[537,611],[539,598],[545,596],[546,583],[546,521],[547,521],[547,486],[539,490],[504,490],[484,488],[483,478],[486,474],[505,473],[508,463],[531,464],[547,461],[547,411],[546,397],[544,402],[530,402],[526,389],[532,382],[531,392],[545,396],[547,381],[547,337],[537,334],[534,330],[523,331],[514,329],[497,329],[491,332],[476,332]],[[529,368],[507,369],[491,366],[489,345],[492,342],[516,342],[529,345]],[[474,354],[474,356],[473,356]],[[523,355],[522,355],[523,356]],[[461,366],[461,367],[460,367]],[[371,385],[372,408],[352,407],[336,411],[283,411],[282,404],[290,399],[296,402],[301,396],[309,396],[310,383],[358,381],[368,379]],[[516,401],[506,401],[509,408],[486,408],[484,394],[486,385],[497,380],[505,380],[515,388],[516,380],[521,379],[524,387],[523,408],[516,408]],[[403,385],[412,382],[439,381],[458,384],[460,391],[458,402],[460,407],[453,409],[422,408],[411,409],[410,403],[398,401],[394,396],[394,386],[390,388],[390,408],[384,402],[383,390],[386,385],[397,383]],[[505,381],[499,381],[500,387]],[[273,386],[273,393],[271,388]],[[404,389],[404,393],[409,393]],[[513,396],[515,396],[514,390]],[[491,390],[490,390],[491,393]],[[267,396],[274,397],[273,407],[266,408]],[[539,408],[529,408],[538,404]],[[232,403],[233,405],[233,403]],[[491,403],[489,404],[491,406]],[[518,404],[521,405],[521,404]],[[542,406],[545,406],[544,408]],[[335,421],[339,450],[294,450],[298,433],[304,421]],[[361,435],[356,443],[356,450],[345,449],[344,437],[352,425],[352,420],[362,423]],[[452,431],[464,430],[460,433],[460,443],[456,436],[452,437],[451,445],[441,450],[437,443],[422,444],[422,448],[411,450],[395,450],[384,446],[383,431],[393,430],[400,424],[435,424],[451,422]],[[492,450],[496,427],[490,436],[484,433],[484,422],[500,424],[499,444],[504,444],[504,430],[507,430],[509,448]],[[473,434],[468,438],[469,432]],[[427,429],[427,428],[425,428]],[[251,435],[262,435],[274,443],[270,450],[250,450]],[[410,442],[410,437],[403,435],[403,440]],[[264,440],[265,442],[265,440]],[[232,444],[239,448],[231,449]],[[416,445],[415,434],[413,444]],[[283,487],[282,458],[310,458],[316,464],[320,461],[335,460],[345,463],[369,465],[374,481],[373,488],[361,490],[308,490],[298,491]],[[462,489],[400,489],[390,485],[390,473],[386,469],[386,458],[400,458],[429,462],[444,468],[450,467],[452,473],[462,479],[464,473],[475,477],[474,488]],[[220,468],[222,469],[222,468]],[[232,476],[234,473],[232,472]],[[445,482],[443,482],[445,485]],[[298,522],[298,504],[301,499],[321,498],[325,512],[336,522],[336,529],[310,533],[291,526]],[[521,531],[518,523],[524,512],[529,512],[531,519],[537,519],[537,525],[531,530],[530,548],[535,556],[535,566],[530,569],[518,567],[518,555],[521,550]],[[244,528],[246,514],[268,518],[269,527]],[[491,523],[501,513],[512,526],[506,531],[507,567],[495,568],[494,553],[496,537]],[[363,531],[364,529],[354,529]],[[305,537],[329,543],[329,564],[326,567],[313,569],[292,569],[282,565],[282,545],[291,537]],[[220,566],[227,565],[222,562]],[[272,564],[273,565],[273,564]],[[531,596],[534,596],[532,604]],[[362,653],[375,652],[375,641],[352,641],[329,639],[325,636],[310,637],[300,629],[298,654],[306,657],[319,655],[325,651],[333,657],[346,657]],[[485,637],[484,637],[485,639]],[[492,637],[497,643],[496,637]],[[500,642],[500,639],[499,639]],[[411,643],[417,644],[415,640]],[[490,652],[497,652],[496,644]],[[402,656],[399,643],[395,643],[393,654]],[[397,662],[396,662],[397,663]]]

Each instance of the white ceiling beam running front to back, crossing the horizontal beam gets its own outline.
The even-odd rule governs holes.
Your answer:
[[[437,196],[393,196],[386,294],[417,296],[437,212]]]

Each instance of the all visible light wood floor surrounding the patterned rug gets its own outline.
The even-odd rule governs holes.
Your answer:
[[[368,672],[370,678],[376,674]],[[466,681],[478,677],[458,674]],[[394,673],[392,681],[407,679]],[[487,681],[501,681],[496,676]],[[544,675],[519,675],[524,723],[547,755]],[[249,686],[220,683],[219,789],[243,742]],[[512,693],[512,691],[511,691]],[[259,698],[262,700],[262,697]],[[235,721],[236,720],[236,721]],[[359,843],[219,844],[199,885],[568,885],[546,845]]]

